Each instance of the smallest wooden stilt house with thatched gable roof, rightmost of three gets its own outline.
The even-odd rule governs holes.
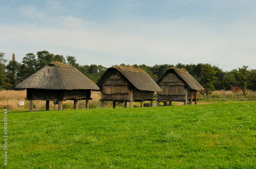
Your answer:
[[[165,73],[156,80],[157,85],[162,89],[161,92],[157,92],[157,104],[159,102],[184,102],[186,105],[197,104],[197,93],[204,88],[191,76],[185,69],[177,69],[175,67],[169,68]]]

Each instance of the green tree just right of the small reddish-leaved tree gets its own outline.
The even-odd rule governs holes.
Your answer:
[[[249,77],[251,75],[250,71],[247,70],[248,66],[243,66],[238,68],[238,70],[234,69],[232,73],[234,74],[237,80],[237,86],[242,88],[243,96],[246,94],[246,87],[248,86]]]

